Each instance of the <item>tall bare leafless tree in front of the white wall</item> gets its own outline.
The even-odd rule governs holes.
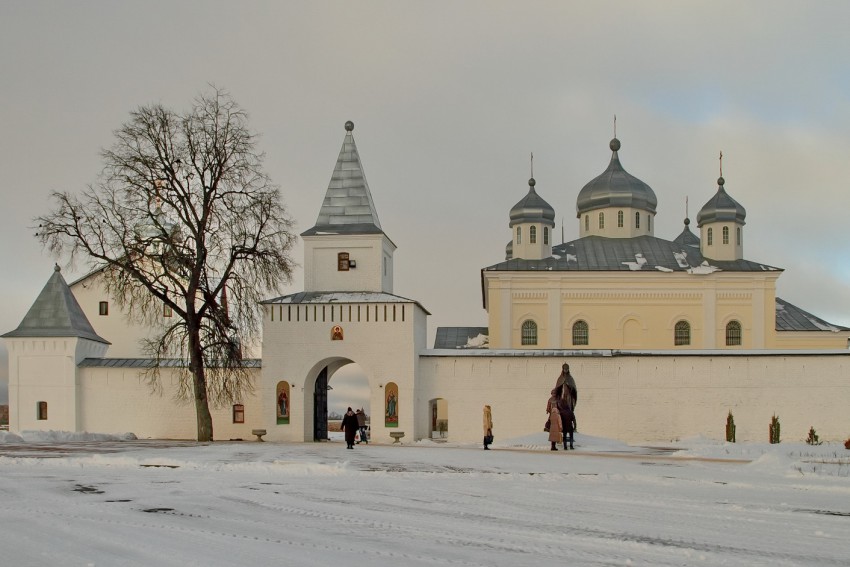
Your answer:
[[[37,237],[69,263],[102,271],[130,317],[173,323],[144,345],[155,387],[166,359],[182,364],[179,396],[194,399],[198,441],[213,440],[210,404],[253,390],[241,345],[260,328],[259,301],[290,281],[295,242],[248,117],[213,88],[180,114],[139,108],[102,151],[81,195],[56,192]]]

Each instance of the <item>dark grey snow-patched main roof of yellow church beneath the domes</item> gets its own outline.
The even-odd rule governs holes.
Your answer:
[[[514,259],[494,264],[486,271],[662,271],[710,273],[781,271],[750,260],[707,260],[699,248],[644,235],[634,238],[585,236],[552,247],[542,260]]]

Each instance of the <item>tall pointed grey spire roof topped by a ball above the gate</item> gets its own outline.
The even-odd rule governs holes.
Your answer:
[[[354,123],[345,123],[345,139],[336,160],[316,224],[301,236],[383,234],[372,193],[354,143]]]

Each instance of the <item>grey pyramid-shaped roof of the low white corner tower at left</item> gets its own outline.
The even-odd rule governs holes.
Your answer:
[[[3,337],[79,337],[110,344],[95,333],[58,265],[18,328]]]

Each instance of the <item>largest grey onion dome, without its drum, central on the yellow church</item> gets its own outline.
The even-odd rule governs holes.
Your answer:
[[[655,192],[649,185],[629,174],[620,165],[620,158],[617,155],[620,140],[614,138],[609,147],[614,152],[611,163],[608,164],[608,169],[579,191],[576,200],[576,216],[580,217],[588,211],[608,207],[631,207],[654,214],[655,207],[658,205]]]

